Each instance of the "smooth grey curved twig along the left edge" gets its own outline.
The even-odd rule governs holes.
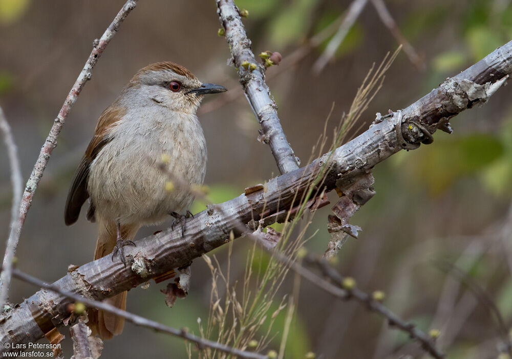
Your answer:
[[[15,238],[19,237],[19,202],[23,191],[23,176],[19,165],[18,148],[14,142],[11,127],[5,118],[2,107],[0,107],[0,132],[2,132],[2,137],[4,138],[4,143],[7,147],[12,183],[11,224],[9,226],[9,238],[7,240],[4,255],[5,271],[0,276],[0,310],[2,310],[8,298],[7,294],[9,291],[9,283],[11,282],[12,261],[14,259],[15,252]]]

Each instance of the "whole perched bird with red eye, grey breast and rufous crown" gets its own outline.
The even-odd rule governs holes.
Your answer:
[[[203,184],[206,141],[196,111],[204,95],[224,91],[181,65],[159,62],[140,69],[101,113],[71,181],[64,214],[65,224],[72,225],[89,198],[87,219],[98,226],[95,260],[112,253],[114,261],[119,252],[125,264],[123,246],[135,245],[139,228],[169,215],[185,229],[193,194],[186,188],[169,191],[169,177],[159,164],[165,158],[173,176]],[[106,301],[124,310],[126,292]],[[123,318],[101,310],[88,314],[94,335],[110,339],[122,332]]]

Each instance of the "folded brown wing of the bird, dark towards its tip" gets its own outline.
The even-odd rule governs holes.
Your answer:
[[[66,208],[64,210],[64,222],[67,226],[72,225],[78,220],[80,209],[84,202],[89,198],[87,192],[87,181],[89,178],[89,167],[98,155],[99,151],[109,143],[110,139],[106,137],[109,134],[112,126],[121,119],[126,113],[123,107],[111,106],[107,108],[98,118],[94,137],[87,146],[86,153],[82,157],[80,165],[75,171],[75,175],[71,181],[71,187],[68,192],[68,199],[66,200]],[[88,219],[94,218],[94,206],[91,205],[89,209]]]

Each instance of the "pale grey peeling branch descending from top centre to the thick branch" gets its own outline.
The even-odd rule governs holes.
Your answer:
[[[251,41],[245,33],[239,10],[233,0],[217,0],[217,7],[234,66],[238,68],[240,83],[261,125],[261,138],[270,146],[281,174],[296,170],[298,158],[295,157],[281,127],[278,106],[265,83],[263,67],[257,65],[258,62],[251,51]],[[244,67],[242,64],[247,65]]]

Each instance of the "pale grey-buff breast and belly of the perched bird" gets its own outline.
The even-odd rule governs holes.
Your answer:
[[[89,193],[99,215],[121,223],[153,224],[169,212],[188,209],[193,196],[173,178],[202,184],[206,171],[206,141],[195,114],[164,108],[127,113],[113,139],[91,164]],[[136,117],[135,117],[136,116]],[[167,175],[158,168],[165,154]]]

